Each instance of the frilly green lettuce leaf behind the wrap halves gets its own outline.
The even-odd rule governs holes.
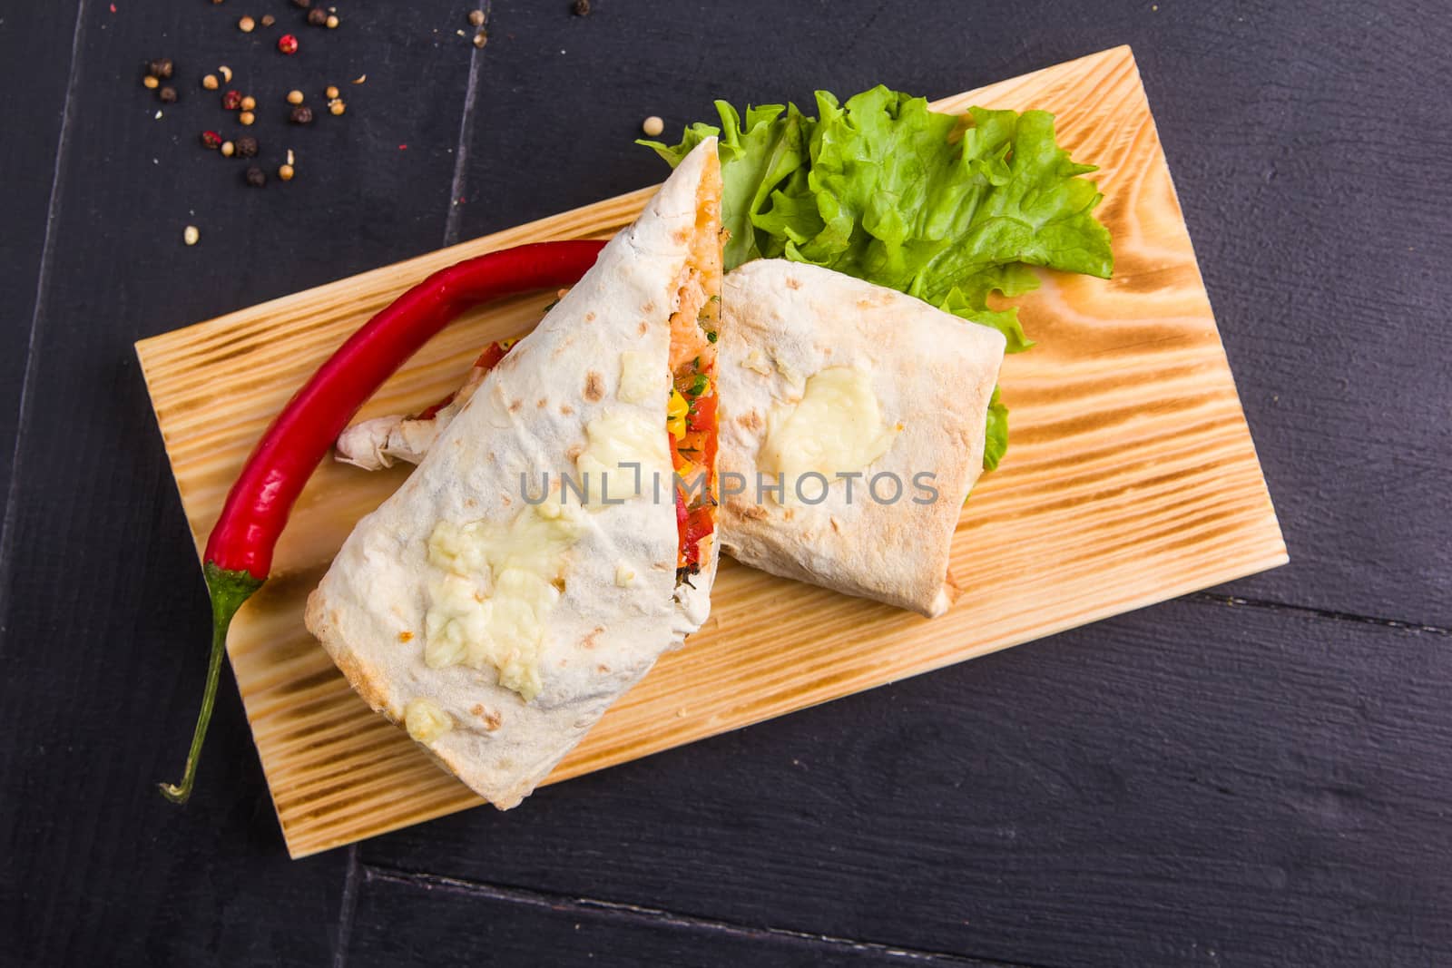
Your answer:
[[[745,122],[716,102],[722,126],[696,123],[678,145],[642,142],[672,165],[720,136],[726,268],[752,258],[823,266],[931,302],[1028,350],[1015,306],[1038,286],[1035,266],[1106,279],[1109,232],[1093,218],[1102,196],[1054,139],[1054,118],[970,107],[929,110],[922,97],[878,86],[845,104],[816,93],[817,118],[794,104],[748,107]],[[1008,408],[995,390],[983,466],[1008,447]]]

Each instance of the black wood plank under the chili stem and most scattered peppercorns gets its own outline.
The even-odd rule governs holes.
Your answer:
[[[232,4],[116,6],[84,7],[19,448],[0,936],[28,964],[327,964],[346,858],[286,859],[229,675],[193,803],[155,789],[182,768],[209,615],[131,344],[439,247],[473,48],[441,44],[462,16],[443,3],[343,10],[338,30],[298,29],[290,60],[270,48],[277,28],[238,32]],[[139,84],[161,55],[177,62],[174,106]],[[267,165],[295,148],[290,184],[247,189],[241,163],[197,145],[203,128],[242,131],[199,86],[219,64],[260,103]],[[287,89],[319,103],[327,83],[348,113],[289,128]]]

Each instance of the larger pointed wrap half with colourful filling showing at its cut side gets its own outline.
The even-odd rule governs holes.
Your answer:
[[[497,807],[706,620],[713,504],[675,496],[671,441],[684,419],[714,450],[719,234],[713,141],[478,382],[308,601],[353,688]],[[706,380],[684,418],[682,376]]]

